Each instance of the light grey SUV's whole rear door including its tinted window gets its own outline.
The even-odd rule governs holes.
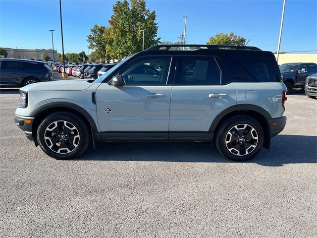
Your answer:
[[[179,57],[176,75],[170,106],[170,140],[186,139],[187,132],[192,132],[189,136],[208,132],[220,112],[236,105],[235,87],[218,59]],[[175,132],[186,133],[183,137]]]

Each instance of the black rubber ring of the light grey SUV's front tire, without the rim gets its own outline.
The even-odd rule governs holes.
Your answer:
[[[70,123],[72,123],[78,130],[80,139],[78,146],[70,153],[67,154],[59,154],[54,152],[49,148],[49,146],[45,142],[44,134],[46,131],[46,128],[53,123],[54,121],[57,120],[65,120]],[[88,143],[89,143],[89,133],[87,126],[80,120],[78,119],[75,115],[71,115],[68,113],[54,113],[48,117],[46,117],[41,124],[38,127],[37,131],[37,140],[39,142],[39,145],[41,149],[49,156],[55,158],[55,159],[72,159],[75,158],[79,155],[81,155],[87,148]]]

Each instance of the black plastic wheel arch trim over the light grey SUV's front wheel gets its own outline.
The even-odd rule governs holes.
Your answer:
[[[50,114],[56,112],[68,112],[80,117],[84,123],[92,128],[93,131],[98,132],[97,125],[92,116],[82,107],[75,105],[73,103],[67,102],[52,102],[44,104],[32,111],[30,117],[34,117],[32,123],[32,134],[36,135],[37,128],[39,127],[41,121]],[[36,140],[36,137],[34,138]]]

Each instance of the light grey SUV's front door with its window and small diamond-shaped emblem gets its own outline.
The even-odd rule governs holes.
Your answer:
[[[168,139],[172,89],[172,85],[167,84],[170,64],[171,57],[138,58],[118,72],[124,86],[115,87],[108,83],[99,86],[96,103],[102,132],[160,131],[166,132],[164,138]]]

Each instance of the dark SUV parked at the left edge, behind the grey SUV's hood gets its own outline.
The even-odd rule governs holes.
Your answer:
[[[0,87],[21,87],[46,81],[53,81],[53,72],[45,62],[0,59]]]

